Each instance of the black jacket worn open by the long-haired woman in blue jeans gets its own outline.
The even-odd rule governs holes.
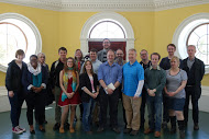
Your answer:
[[[92,78],[94,78],[94,88],[95,88],[95,91],[97,91],[97,86],[99,85],[97,74],[94,73]],[[79,77],[79,88],[81,89],[84,86],[86,86],[90,92],[92,92],[90,79],[87,73],[81,73]],[[90,97],[91,97],[90,95],[88,95],[86,92],[84,92],[81,90],[81,101],[82,102],[88,103]]]

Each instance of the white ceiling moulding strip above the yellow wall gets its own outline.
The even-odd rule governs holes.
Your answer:
[[[209,0],[0,0],[54,11],[162,11],[209,3]]]

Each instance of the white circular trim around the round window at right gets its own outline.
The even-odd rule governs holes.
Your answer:
[[[186,38],[183,40],[183,43],[180,44],[179,46],[179,37],[180,37],[180,34],[183,32],[183,30],[191,22],[194,21],[197,21],[197,20],[209,20],[209,13],[197,13],[197,14],[194,14],[187,19],[185,19],[179,25],[178,27],[176,28],[175,33],[174,33],[174,36],[173,36],[173,44],[175,44],[177,47],[176,47],[176,53],[175,55],[178,56],[179,58],[184,59],[185,57],[182,57],[180,56],[180,47],[185,47],[186,48]],[[193,28],[195,28],[195,26],[199,25],[199,24],[202,24],[202,23],[198,23],[198,24],[194,24],[193,27],[190,27],[187,32],[187,35],[185,35],[185,37],[188,37],[188,34],[190,33],[190,31]],[[188,55],[186,55],[187,57]],[[206,72],[205,74],[208,74],[209,73],[209,68],[206,67],[205,68]]]

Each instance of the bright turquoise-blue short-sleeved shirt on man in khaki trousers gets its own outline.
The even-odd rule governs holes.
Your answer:
[[[133,65],[125,63],[123,66],[123,93],[128,96],[134,96],[140,80],[144,80],[144,69],[138,60]]]

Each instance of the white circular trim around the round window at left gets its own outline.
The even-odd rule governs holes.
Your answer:
[[[2,13],[2,14],[0,14],[0,21],[7,20],[7,19],[20,20],[20,21],[24,22],[25,24],[28,24],[31,27],[31,30],[33,31],[35,38],[36,38],[36,45],[37,46],[36,46],[35,54],[38,54],[42,51],[42,37],[40,34],[40,31],[37,30],[35,24],[31,20],[29,20],[26,16],[21,15],[19,13]],[[7,69],[8,69],[8,67],[0,65],[0,71],[7,72]]]

